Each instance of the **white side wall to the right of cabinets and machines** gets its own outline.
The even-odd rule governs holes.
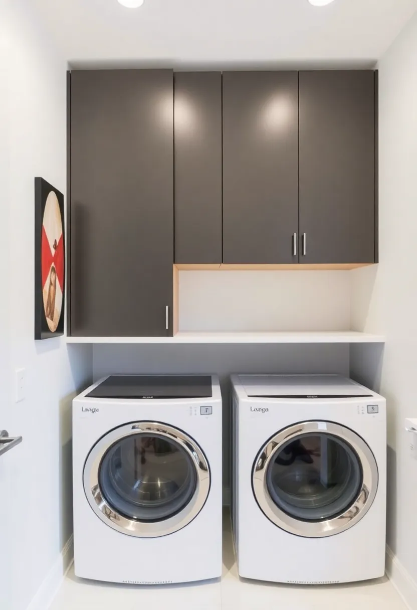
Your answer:
[[[387,336],[385,352],[352,346],[352,375],[388,401],[388,569],[417,608],[417,15],[379,63],[380,264],[352,272],[352,326]]]

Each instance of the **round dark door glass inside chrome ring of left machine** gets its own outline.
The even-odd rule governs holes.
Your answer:
[[[134,434],[114,443],[99,468],[105,500],[128,519],[156,522],[173,517],[196,491],[188,453],[159,434]]]

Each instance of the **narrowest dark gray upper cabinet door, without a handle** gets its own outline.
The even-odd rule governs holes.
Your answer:
[[[221,73],[174,77],[175,262],[221,263]]]

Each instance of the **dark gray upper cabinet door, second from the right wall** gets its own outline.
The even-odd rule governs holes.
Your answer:
[[[298,262],[298,73],[223,73],[223,262]]]

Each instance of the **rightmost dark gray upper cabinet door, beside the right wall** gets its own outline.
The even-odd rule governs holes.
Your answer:
[[[374,77],[299,74],[301,263],[375,260]]]

